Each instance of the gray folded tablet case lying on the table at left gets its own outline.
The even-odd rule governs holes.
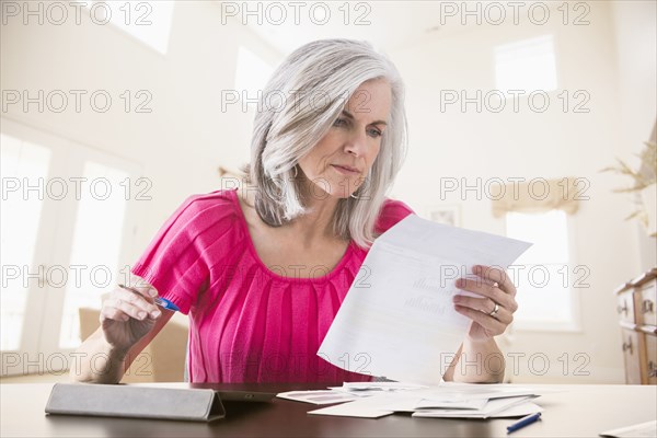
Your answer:
[[[223,418],[226,411],[210,389],[56,383],[46,414],[212,422]]]

